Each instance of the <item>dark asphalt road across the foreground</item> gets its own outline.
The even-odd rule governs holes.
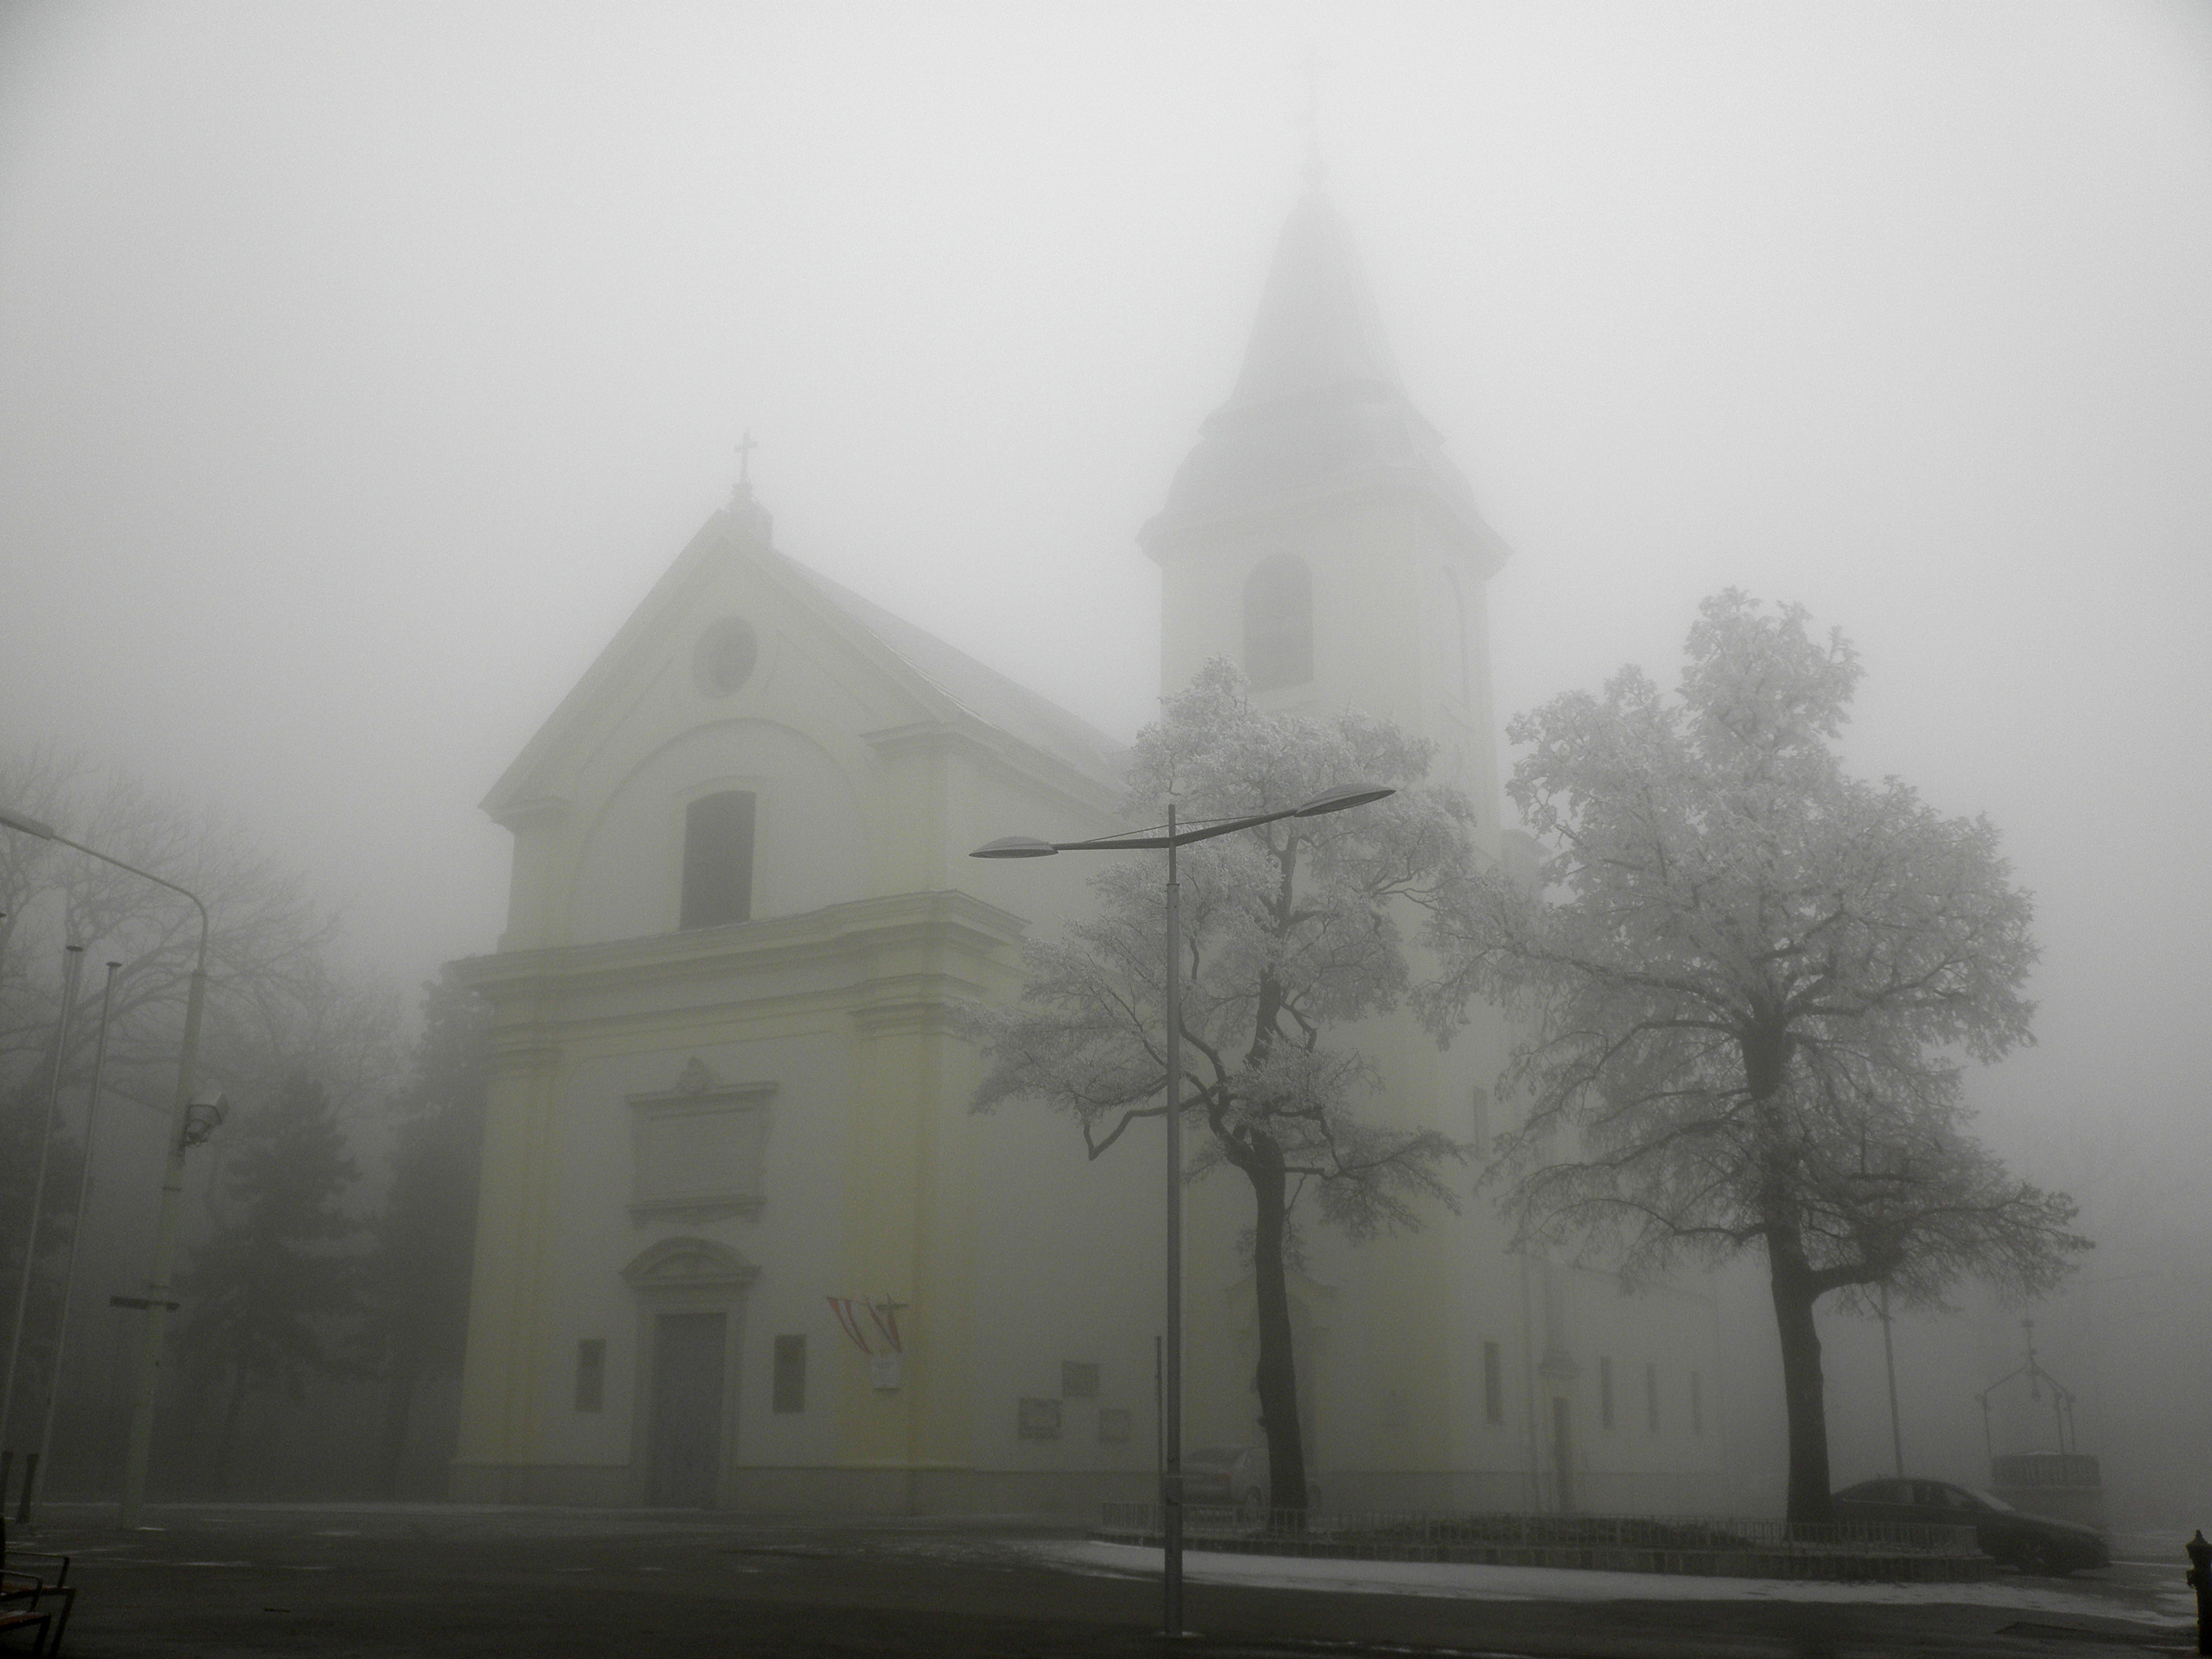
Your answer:
[[[119,1533],[58,1509],[22,1546],[75,1555],[75,1659],[445,1659],[529,1655],[916,1655],[1119,1659],[1161,1652],[1159,1586],[1071,1573],[1033,1522],[602,1515],[469,1509],[157,1511]],[[2137,1577],[2130,1577],[2137,1575]],[[2070,1579],[2112,1617],[2002,1606],[1467,1601],[1192,1584],[1221,1659],[1575,1655],[1582,1659],[2051,1659],[2192,1650],[2130,1619],[2163,1568]],[[2137,1582],[2141,1579],[2141,1582]],[[2168,1597],[2168,1608],[2172,1606]],[[0,1641],[0,1652],[9,1652]]]

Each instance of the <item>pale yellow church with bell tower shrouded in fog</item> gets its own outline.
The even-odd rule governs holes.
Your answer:
[[[1336,212],[1292,210],[1243,372],[1141,533],[1164,688],[1438,743],[1500,841],[1484,584]],[[1088,869],[967,858],[1115,816],[1117,745],[776,551],[741,489],[493,787],[509,927],[453,1495],[1073,1509],[1148,1498],[1159,1146],[969,1113],[956,1009]],[[1358,1033],[1378,1110],[1480,1139],[1502,1033]],[[1188,1444],[1254,1444],[1232,1181],[1190,1197]],[[1712,1509],[1708,1296],[1515,1256],[1484,1201],[1292,1276],[1329,1506]],[[896,1327],[896,1343],[894,1343]],[[863,1352],[863,1345],[869,1352]]]

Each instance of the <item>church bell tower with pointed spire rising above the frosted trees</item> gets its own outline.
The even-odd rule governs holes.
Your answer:
[[[1509,549],[1407,396],[1318,186],[1283,226],[1237,389],[1139,542],[1164,577],[1166,692],[1228,657],[1265,708],[1394,719],[1495,834],[1484,584]]]

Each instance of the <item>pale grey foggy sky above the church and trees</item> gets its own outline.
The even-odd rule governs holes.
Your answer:
[[[1498,708],[1670,679],[1730,584],[1843,628],[1854,765],[1989,814],[2037,896],[2039,1044],[1973,1099],[2126,1283],[2044,1360],[2185,1343],[2201,7],[18,2],[0,741],[210,805],[414,984],[495,947],[478,801],[748,431],[787,553],[1133,734],[1135,531],[1234,378],[1307,62],[1413,400],[1515,549]],[[2013,1318],[1900,1336],[1947,1447]],[[1838,1478],[1887,1462],[1869,1332]],[[2212,1405],[2192,1352],[2172,1416],[2101,1429],[2139,1464]]]

